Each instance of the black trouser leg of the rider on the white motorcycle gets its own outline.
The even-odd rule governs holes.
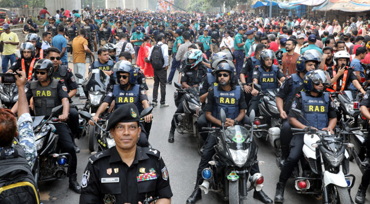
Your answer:
[[[290,153],[287,160],[284,162],[284,166],[281,169],[279,182],[286,183],[288,181],[294,166],[297,165],[298,161],[303,155],[303,141],[304,134],[296,134],[290,141]]]

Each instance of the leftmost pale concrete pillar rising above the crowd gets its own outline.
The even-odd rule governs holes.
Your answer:
[[[78,10],[80,15],[82,13],[81,1],[79,0],[45,0],[45,7],[52,16],[61,8],[64,8],[64,11],[69,10],[70,14],[72,14],[72,10]]]

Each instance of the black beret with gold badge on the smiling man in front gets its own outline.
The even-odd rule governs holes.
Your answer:
[[[139,111],[135,104],[129,103],[124,104],[114,110],[112,115],[109,117],[107,131],[112,129],[118,122],[134,122],[140,121]]]

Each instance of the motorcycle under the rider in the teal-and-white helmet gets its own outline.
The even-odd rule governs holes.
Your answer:
[[[177,117],[176,130],[180,134],[192,134],[198,137],[198,151],[203,146],[203,139],[198,133],[198,118],[202,114],[201,102],[199,97],[199,87],[190,87],[183,89],[180,83],[175,82],[177,92],[174,94],[175,104],[179,105],[179,100],[185,94],[183,100],[184,113],[175,113],[174,118]],[[176,121],[176,120],[175,120]]]

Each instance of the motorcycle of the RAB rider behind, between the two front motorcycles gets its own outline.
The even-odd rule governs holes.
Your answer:
[[[265,129],[262,129],[260,132],[255,132],[254,136],[257,138],[266,137],[266,140],[275,149],[275,155],[280,157],[281,147],[280,147],[280,127],[281,127],[281,118],[280,112],[276,105],[276,94],[279,89],[267,89],[266,91],[261,91],[261,86],[254,84],[256,90],[259,91],[259,94],[262,95],[260,104],[258,108],[260,111],[260,116],[257,117],[254,121],[256,125],[267,124]]]

